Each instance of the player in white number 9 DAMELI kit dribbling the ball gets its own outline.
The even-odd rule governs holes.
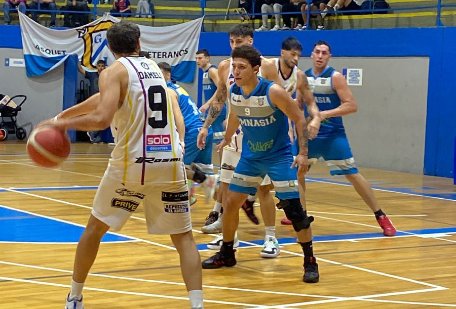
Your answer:
[[[201,259],[192,235],[182,147],[172,116],[176,108],[157,64],[138,56],[139,36],[133,23],[112,25],[106,37],[117,60],[100,74],[100,94],[53,122],[62,130],[101,130],[110,124],[117,128],[116,146],[76,250],[65,309],[84,308],[82,290],[101,238],[109,229],[120,230],[140,202],[148,233],[171,235],[191,308],[203,308]]]

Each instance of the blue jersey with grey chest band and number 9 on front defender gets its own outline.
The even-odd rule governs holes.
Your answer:
[[[230,88],[230,106],[241,121],[244,133],[241,157],[262,159],[291,154],[288,121],[269,97],[274,82],[261,77],[258,80],[248,97],[236,83]]]

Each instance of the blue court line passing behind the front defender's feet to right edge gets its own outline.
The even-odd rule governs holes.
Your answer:
[[[456,227],[451,228],[440,228],[440,229],[424,229],[424,230],[410,230],[396,233],[396,236],[410,236],[410,234],[417,234],[417,235],[429,235],[429,234],[445,234],[445,233],[456,233]],[[385,237],[383,236],[382,232],[378,233],[360,233],[360,234],[339,234],[339,235],[322,235],[322,236],[314,236],[313,242],[322,242],[322,241],[335,241],[335,240],[358,240],[358,239],[365,239],[365,238],[374,238],[374,237]],[[281,245],[286,244],[293,244],[296,243],[296,237],[289,237],[289,238],[278,238],[277,241]],[[264,243],[264,239],[258,240],[249,240],[249,243],[253,243],[256,245],[262,245]],[[239,243],[239,247],[251,247],[252,245],[246,244],[243,242]],[[198,250],[206,250],[206,244],[197,244]]]

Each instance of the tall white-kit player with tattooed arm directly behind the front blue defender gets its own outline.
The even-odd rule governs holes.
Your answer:
[[[236,25],[229,33],[230,46],[232,50],[243,45],[253,44],[253,29],[247,24]],[[218,114],[224,106],[224,102],[227,98],[227,89],[235,82],[233,76],[232,59],[228,58],[220,62],[218,66],[218,79],[219,84],[214,97],[211,98],[211,107],[206,118],[206,122],[203,128],[200,130],[198,135],[198,146],[204,147],[204,141],[207,135],[207,128],[217,118]],[[280,84],[279,74],[276,68],[275,61],[272,59],[262,58],[261,60],[261,76]],[[229,107],[230,110],[230,107]],[[239,134],[233,136],[232,143],[223,149],[222,162],[220,164],[220,189],[222,192],[222,202],[225,196],[228,185],[233,176],[234,169],[239,162],[242,151],[242,131]],[[280,253],[279,245],[275,237],[275,203],[270,194],[271,180],[268,176],[265,177],[260,188],[258,189],[258,198],[261,206],[261,215],[264,221],[265,227],[265,240],[261,250],[261,256],[263,257],[276,257]],[[255,197],[249,196],[246,203],[251,203],[253,207],[253,201]],[[222,216],[212,225],[204,227],[208,229],[214,226],[216,229],[221,228]],[[222,235],[220,234],[216,239],[208,244],[209,248],[218,249],[222,243]],[[236,242],[237,244],[238,242]]]

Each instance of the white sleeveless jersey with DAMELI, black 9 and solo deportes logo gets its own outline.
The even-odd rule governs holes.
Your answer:
[[[182,148],[166,82],[153,60],[122,57],[128,89],[111,123],[116,146],[105,175],[122,183],[185,181]]]

